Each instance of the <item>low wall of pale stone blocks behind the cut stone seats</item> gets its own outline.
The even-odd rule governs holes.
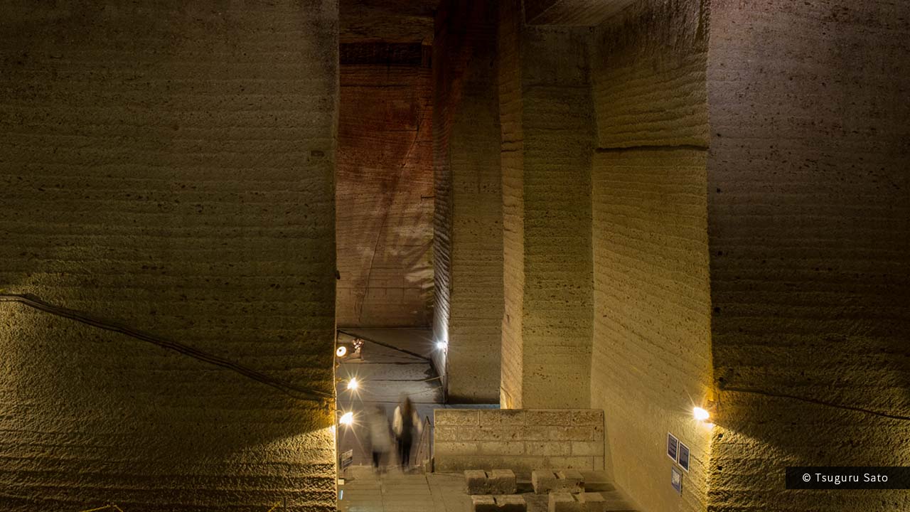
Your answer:
[[[436,409],[437,471],[603,469],[600,409]]]

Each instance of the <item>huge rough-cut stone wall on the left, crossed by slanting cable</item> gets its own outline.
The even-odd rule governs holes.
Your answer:
[[[0,288],[331,394],[337,3],[52,5],[0,20]],[[334,404],[0,325],[0,509],[335,509]]]

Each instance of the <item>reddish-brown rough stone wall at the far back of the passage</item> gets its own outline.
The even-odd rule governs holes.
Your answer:
[[[430,325],[429,48],[341,46],[335,197],[342,327]]]

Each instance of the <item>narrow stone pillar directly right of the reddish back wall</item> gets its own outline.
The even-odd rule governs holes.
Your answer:
[[[499,400],[502,205],[496,5],[443,2],[437,15],[434,166],[437,319],[449,400]],[[440,356],[443,354],[440,354]],[[438,356],[438,359],[440,357]]]

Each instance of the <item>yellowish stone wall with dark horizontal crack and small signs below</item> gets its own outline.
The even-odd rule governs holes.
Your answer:
[[[706,15],[698,0],[642,0],[598,27],[591,65],[591,407],[605,468],[644,510],[704,510],[712,386],[707,237]],[[680,497],[667,433],[692,450]]]

